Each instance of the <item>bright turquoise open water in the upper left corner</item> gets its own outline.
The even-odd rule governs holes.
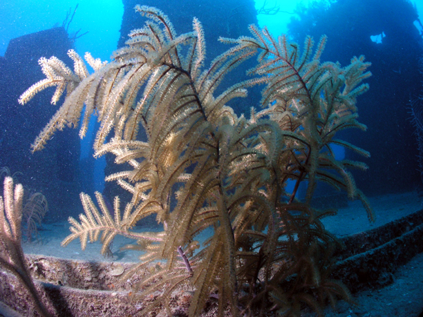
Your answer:
[[[120,0],[2,0],[0,1],[0,55],[3,56],[8,41],[21,35],[62,26],[66,14],[73,13],[78,4],[68,32],[79,31],[77,52],[91,52],[93,57],[110,59],[120,37],[123,5]]]

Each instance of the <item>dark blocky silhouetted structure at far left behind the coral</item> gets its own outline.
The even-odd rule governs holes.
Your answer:
[[[12,173],[21,171],[19,182],[46,196],[50,220],[68,218],[81,208],[79,137],[77,130],[66,128],[43,151],[31,153],[30,144],[58,106],[50,104],[51,91],[38,94],[26,106],[17,100],[44,77],[40,57],[55,55],[72,68],[66,55],[71,48],[66,30],[53,28],[12,39],[0,62],[0,167],[8,166]]]

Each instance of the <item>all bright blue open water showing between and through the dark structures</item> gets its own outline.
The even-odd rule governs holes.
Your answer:
[[[258,9],[266,3],[266,6],[279,6],[281,10],[277,15],[258,15],[259,26],[267,26],[274,35],[288,32],[287,24],[294,15],[294,8],[299,2],[308,3],[309,1],[256,0]],[[4,55],[10,39],[46,30],[53,26],[62,26],[66,15],[72,15],[76,6],[77,11],[69,25],[68,33],[72,37],[73,33],[77,31],[79,31],[79,35],[88,32],[75,41],[77,52],[79,55],[84,55],[84,52],[88,51],[95,58],[109,60],[111,52],[117,48],[120,38],[120,26],[124,12],[121,0],[1,0],[0,56]],[[415,6],[419,12],[423,12],[423,0],[415,1]],[[377,34],[375,37],[376,41],[381,39]],[[91,134],[87,135],[81,143],[81,159],[88,156],[92,144]],[[343,153],[339,153],[339,155],[343,155]],[[104,186],[104,166],[104,158],[100,158],[95,163],[95,189],[99,191],[102,191]]]

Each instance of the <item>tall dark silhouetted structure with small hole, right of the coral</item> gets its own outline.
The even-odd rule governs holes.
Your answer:
[[[357,186],[368,195],[411,190],[420,184],[417,144],[408,113],[409,100],[420,94],[422,37],[413,21],[417,12],[405,0],[339,0],[329,8],[317,3],[299,10],[290,32],[302,44],[306,35],[315,41],[328,35],[322,59],[348,64],[351,56],[364,55],[372,66],[370,90],[359,97],[359,121],[368,131],[348,131],[343,136],[370,151],[370,169],[355,172]],[[382,44],[371,35],[382,35]],[[354,153],[347,153],[355,159]],[[359,157],[357,157],[359,158]]]

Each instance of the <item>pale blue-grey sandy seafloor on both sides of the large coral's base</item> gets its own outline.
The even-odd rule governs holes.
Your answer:
[[[422,209],[422,198],[417,191],[399,193],[370,198],[370,204],[376,215],[372,224],[368,221],[366,211],[361,202],[348,202],[348,208],[339,209],[337,215],[323,220],[326,228],[339,237],[359,233],[381,226]],[[100,242],[88,243],[85,251],[81,244],[74,240],[67,247],[60,243],[70,234],[68,222],[44,224],[39,231],[42,242],[23,242],[25,253],[43,254],[73,260],[94,260],[109,262],[137,262],[140,253],[136,251],[120,251],[125,244],[133,240],[116,237],[111,250],[113,258],[104,258],[100,254]],[[137,227],[136,231],[147,228]],[[423,237],[422,237],[423,239]],[[394,274],[394,282],[382,289],[366,289],[353,294],[357,306],[339,301],[336,311],[326,309],[326,316],[335,317],[413,317],[423,311],[423,253],[415,256],[407,265],[400,267]],[[303,316],[313,316],[304,312]]]

